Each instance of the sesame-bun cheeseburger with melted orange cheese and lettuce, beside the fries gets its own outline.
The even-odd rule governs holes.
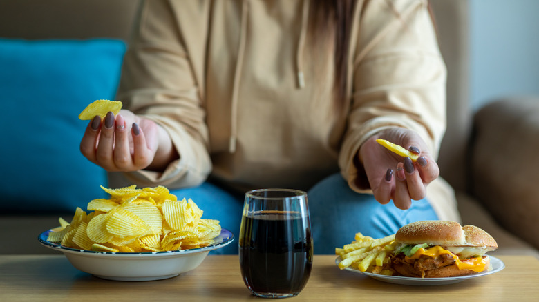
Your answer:
[[[395,234],[391,265],[402,276],[440,278],[476,274],[489,269],[485,253],[498,243],[474,225],[454,221],[417,221]]]

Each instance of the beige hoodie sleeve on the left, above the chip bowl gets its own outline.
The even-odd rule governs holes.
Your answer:
[[[124,108],[162,126],[180,154],[164,172],[124,173],[139,185],[183,188],[202,183],[211,171],[202,104],[208,8],[185,2],[178,11],[169,1],[144,1],[124,57],[118,93]]]

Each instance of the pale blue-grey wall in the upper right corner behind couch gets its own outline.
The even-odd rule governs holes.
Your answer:
[[[508,95],[539,96],[539,1],[470,0],[472,110]]]

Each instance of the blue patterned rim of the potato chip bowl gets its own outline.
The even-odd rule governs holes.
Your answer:
[[[64,245],[60,245],[58,243],[53,243],[50,241],[47,241],[48,234],[50,232],[53,232],[52,229],[46,230],[45,232],[42,232],[37,236],[37,240],[41,245],[46,246],[47,248],[52,248],[55,250],[60,250],[62,252],[81,252],[85,254],[108,254],[108,255],[165,255],[165,254],[191,254],[194,252],[204,252],[204,251],[211,251],[216,250],[218,248],[223,248],[225,245],[228,245],[232,241],[234,241],[234,234],[230,232],[229,230],[225,228],[221,228],[221,233],[219,236],[216,236],[214,238],[214,243],[211,243],[210,245],[207,245],[202,248],[193,248],[190,250],[172,250],[172,251],[162,251],[162,252],[97,252],[93,250],[79,250],[76,248],[68,248]]]

